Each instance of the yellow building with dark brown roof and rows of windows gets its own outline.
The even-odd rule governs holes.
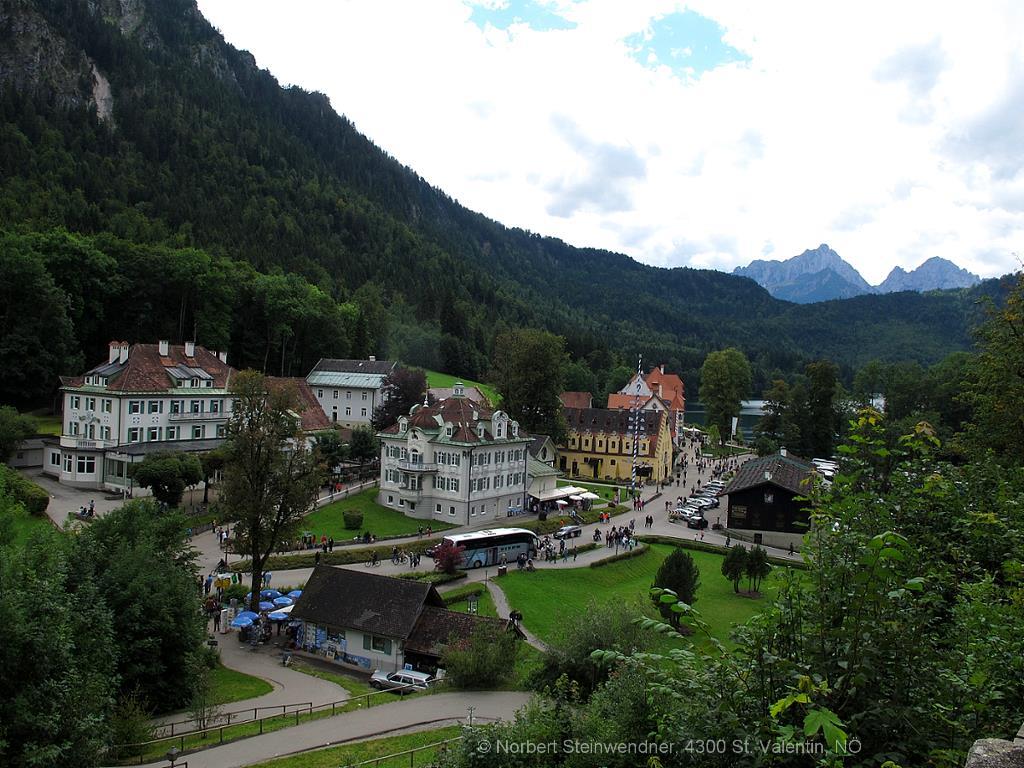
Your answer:
[[[558,446],[558,468],[570,478],[629,481],[634,425],[626,410],[562,409],[568,437]],[[637,480],[665,482],[672,475],[672,432],[664,411],[641,411]]]

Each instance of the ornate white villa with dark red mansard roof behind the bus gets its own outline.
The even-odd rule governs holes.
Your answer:
[[[461,384],[447,399],[414,406],[378,437],[384,506],[458,524],[525,508],[531,438],[508,414],[465,397]]]

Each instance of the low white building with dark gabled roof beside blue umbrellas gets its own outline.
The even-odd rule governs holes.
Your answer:
[[[301,650],[386,672],[407,664],[432,672],[447,639],[483,621],[447,610],[433,585],[330,565],[313,569],[292,618]]]

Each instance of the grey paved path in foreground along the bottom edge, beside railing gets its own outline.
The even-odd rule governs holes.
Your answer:
[[[346,741],[455,725],[466,721],[469,707],[474,708],[474,722],[510,720],[529,697],[518,691],[469,691],[396,700],[240,739],[183,759],[188,761],[188,768],[239,768]],[[152,763],[148,768],[167,768],[167,760]]]

